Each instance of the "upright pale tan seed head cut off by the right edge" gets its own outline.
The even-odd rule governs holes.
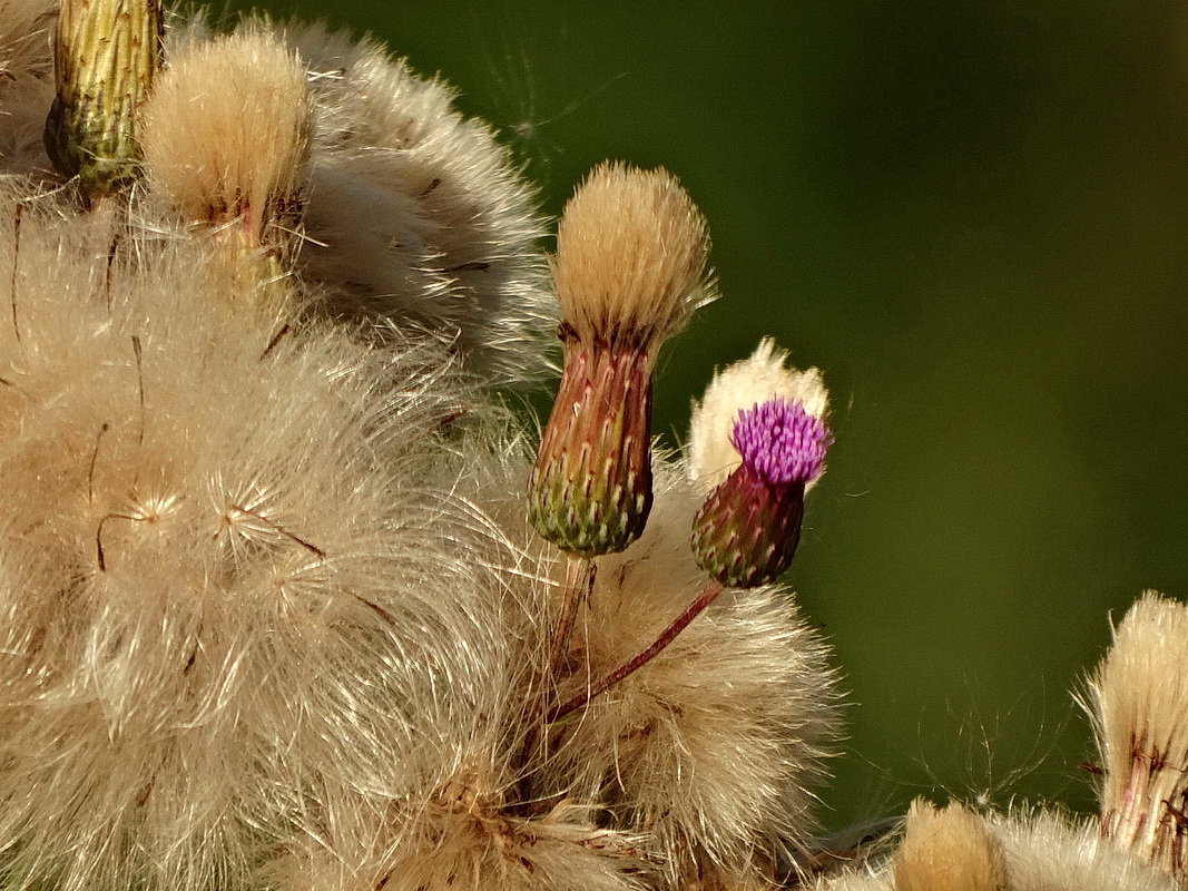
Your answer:
[[[1146,592],[1089,680],[1105,782],[1101,832],[1186,879],[1188,607]]]

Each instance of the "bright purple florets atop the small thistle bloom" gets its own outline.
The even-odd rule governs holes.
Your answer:
[[[810,482],[821,475],[833,444],[829,428],[801,403],[770,399],[739,412],[731,444],[748,470],[771,486]]]

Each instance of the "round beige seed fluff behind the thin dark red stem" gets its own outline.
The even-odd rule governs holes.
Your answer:
[[[676,467],[657,474],[643,537],[599,561],[562,701],[647,646],[708,583],[688,543],[697,499]],[[836,700],[827,647],[789,593],[737,592],[555,726],[542,783],[600,803],[613,826],[649,833],[664,887],[770,879],[814,828]]]

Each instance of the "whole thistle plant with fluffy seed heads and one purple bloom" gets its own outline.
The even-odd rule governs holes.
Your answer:
[[[159,21],[0,4],[6,889],[1184,886],[1182,605],[1091,681],[1099,815],[834,843],[840,682],[784,583],[828,392],[764,340],[653,448],[713,292],[684,189],[599,165],[549,258],[440,81]],[[499,387],[550,328],[533,448]]]

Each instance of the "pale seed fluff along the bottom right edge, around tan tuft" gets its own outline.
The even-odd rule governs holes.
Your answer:
[[[942,811],[946,813],[946,811]],[[883,867],[861,867],[838,877],[821,879],[817,891],[916,891],[916,889],[959,887],[954,877],[968,874],[971,864],[953,862],[950,857],[972,857],[986,862],[986,851],[1000,849],[1006,874],[979,872],[1004,884],[990,885],[1003,891],[1175,891],[1178,883],[1130,855],[1098,833],[1097,827],[1057,813],[1017,810],[1010,814],[977,815],[966,810],[978,827],[967,828],[965,838],[980,838],[982,843],[952,843],[955,833],[944,839],[922,839],[916,843],[922,854],[915,862],[912,881],[904,881],[895,866],[898,854]],[[946,827],[930,821],[917,832],[930,833]],[[909,823],[908,834],[912,827]],[[908,840],[904,840],[906,846]],[[944,854],[944,855],[942,855]],[[928,857],[935,857],[929,861]],[[923,883],[923,884],[921,884]],[[960,885],[981,889],[986,885]]]

